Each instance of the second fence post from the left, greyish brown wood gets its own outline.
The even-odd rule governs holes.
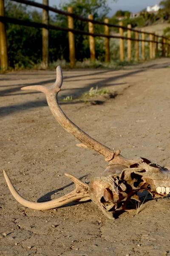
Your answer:
[[[42,3],[48,6],[48,0],[42,0]],[[42,23],[47,25],[47,28],[42,28],[42,64],[46,68],[49,64],[49,15],[45,9],[42,9]]]

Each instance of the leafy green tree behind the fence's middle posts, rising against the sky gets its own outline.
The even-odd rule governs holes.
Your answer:
[[[110,10],[107,0],[69,0],[68,3],[62,3],[59,5],[60,9],[67,11],[68,6],[73,8],[73,12],[81,17],[88,18],[89,14],[94,16],[95,20],[102,20],[108,15]],[[58,26],[67,27],[67,17],[64,15],[56,15],[55,22]],[[88,32],[88,23],[82,20],[74,20],[74,29]],[[103,33],[104,27],[95,25],[96,33]],[[64,33],[63,33],[64,34]],[[68,51],[68,35],[65,34],[66,48],[63,51],[63,55]],[[96,39],[95,39],[96,40]],[[63,42],[61,42],[63,47]],[[75,47],[76,47],[76,59],[83,61],[84,58],[90,58],[88,36],[86,35],[75,35]],[[97,50],[98,49],[98,50]],[[100,46],[98,40],[96,40],[96,58],[104,54],[104,50]],[[68,56],[68,52],[66,54]],[[68,59],[67,59],[68,60]]]

